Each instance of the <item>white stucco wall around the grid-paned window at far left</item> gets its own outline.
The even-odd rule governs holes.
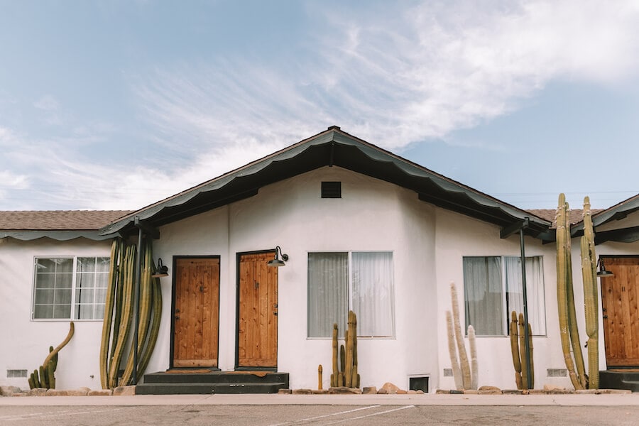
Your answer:
[[[67,337],[69,320],[31,320],[34,258],[109,256],[111,241],[18,241],[0,239],[0,384],[28,389],[26,378],[7,378],[7,370],[42,365],[49,346]],[[75,334],[58,356],[56,388],[100,388],[99,349],[102,320],[75,321]]]

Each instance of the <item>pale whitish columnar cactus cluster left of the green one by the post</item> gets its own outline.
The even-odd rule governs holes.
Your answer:
[[[448,349],[450,354],[450,361],[452,364],[453,376],[455,379],[455,386],[457,387],[457,389],[476,389],[476,387],[473,387],[476,380],[474,380],[472,376],[473,374],[477,376],[477,371],[476,366],[474,366],[474,371],[471,372],[468,354],[466,353],[466,345],[464,344],[464,335],[461,334],[459,304],[457,302],[457,288],[455,287],[455,283],[450,283],[450,297],[452,302],[452,314],[449,311],[446,312],[446,322],[448,330]],[[473,329],[473,342],[471,343],[471,347],[474,347],[475,345],[474,335],[475,333]],[[469,332],[469,339],[470,338],[471,333]],[[456,344],[457,348],[455,348]],[[458,357],[459,363],[457,361]],[[476,360],[474,364],[476,364]]]

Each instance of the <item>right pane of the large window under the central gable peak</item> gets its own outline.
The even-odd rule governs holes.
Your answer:
[[[353,253],[353,311],[359,336],[395,335],[393,253]]]

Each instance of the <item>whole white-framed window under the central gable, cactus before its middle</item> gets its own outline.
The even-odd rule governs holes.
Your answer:
[[[308,253],[308,337],[344,336],[348,312],[359,337],[395,336],[391,251]]]

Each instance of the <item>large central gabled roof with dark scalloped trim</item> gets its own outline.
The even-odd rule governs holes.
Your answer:
[[[525,233],[545,238],[550,221],[497,200],[432,170],[351,136],[337,126],[218,178],[132,212],[101,230],[129,234],[135,218],[161,226],[252,197],[274,182],[324,166],[338,166],[417,192],[420,200],[506,227],[528,218]]]

